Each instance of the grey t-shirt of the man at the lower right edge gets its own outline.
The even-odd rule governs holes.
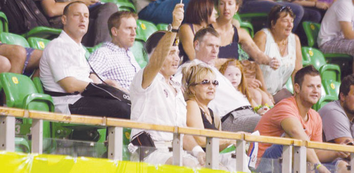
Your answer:
[[[341,137],[353,138],[354,123],[349,121],[339,100],[326,104],[318,113],[322,118],[324,142],[334,142]]]

